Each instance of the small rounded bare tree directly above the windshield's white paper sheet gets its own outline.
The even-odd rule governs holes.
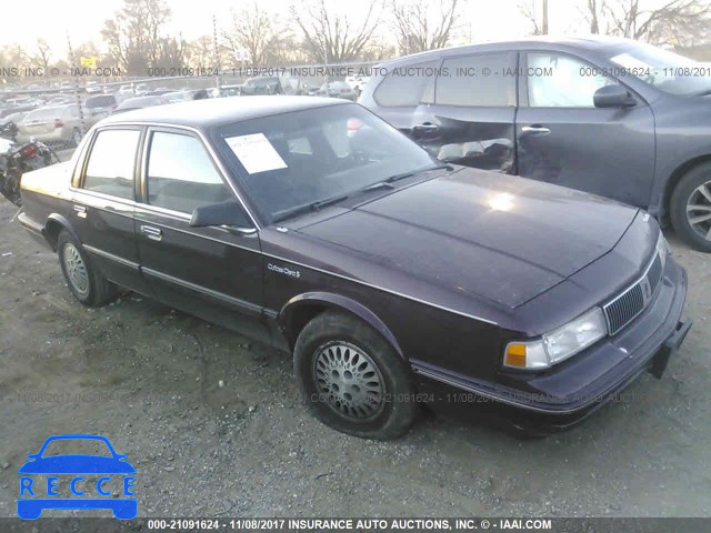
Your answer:
[[[232,57],[238,50],[244,49],[253,64],[266,64],[284,37],[287,30],[279,18],[261,9],[257,2],[240,11],[232,11],[232,23],[222,32]]]

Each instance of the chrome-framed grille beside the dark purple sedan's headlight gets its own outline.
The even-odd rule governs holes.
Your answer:
[[[602,306],[610,335],[618,333],[644,311],[662,279],[662,271],[663,261],[657,253],[642,279]]]

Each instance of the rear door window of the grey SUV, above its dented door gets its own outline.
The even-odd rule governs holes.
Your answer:
[[[502,108],[515,88],[515,77],[504,77],[511,66],[508,53],[481,53],[451,58],[442,63],[447,76],[437,79],[435,103]]]

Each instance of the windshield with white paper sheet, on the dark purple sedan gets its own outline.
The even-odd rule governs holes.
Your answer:
[[[270,223],[300,212],[300,207],[353,195],[437,164],[422,148],[357,104],[227,124],[214,137]]]

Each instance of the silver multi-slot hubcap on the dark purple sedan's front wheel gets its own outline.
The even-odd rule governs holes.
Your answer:
[[[321,398],[336,412],[358,420],[372,419],[384,405],[384,382],[373,360],[347,342],[317,350],[313,376]]]

